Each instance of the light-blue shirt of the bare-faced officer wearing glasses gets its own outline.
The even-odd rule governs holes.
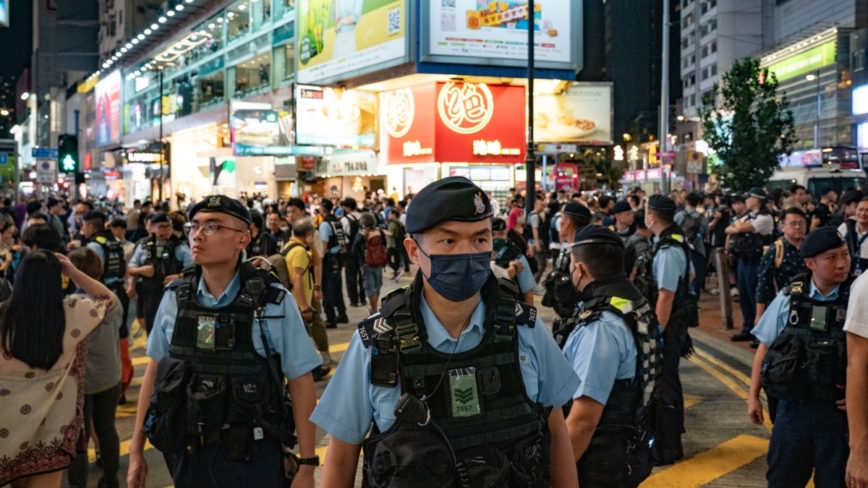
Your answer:
[[[271,286],[280,287],[280,285]],[[232,303],[240,290],[241,279],[236,273],[226,291],[219,298],[214,298],[208,291],[205,280],[199,280],[196,298],[200,304],[206,307],[225,307]],[[163,301],[160,302],[160,308],[157,309],[154,328],[148,336],[147,354],[149,358],[159,361],[169,355],[169,345],[172,343],[172,333],[175,331],[177,316],[178,301],[175,297],[175,290],[166,290],[166,293],[163,294]],[[314,350],[301,319],[298,305],[291,293],[287,292],[279,305],[267,304],[263,316],[282,317],[263,319],[262,325],[265,327],[265,340],[272,351],[280,354],[280,367],[288,379],[298,378],[322,365],[322,359]],[[259,330],[259,323],[254,320],[251,333],[253,347],[260,356],[265,357],[265,349],[262,347]]]

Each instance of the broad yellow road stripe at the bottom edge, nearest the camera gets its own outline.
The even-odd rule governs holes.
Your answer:
[[[642,488],[702,486],[752,462],[768,451],[769,441],[740,435],[650,476]]]

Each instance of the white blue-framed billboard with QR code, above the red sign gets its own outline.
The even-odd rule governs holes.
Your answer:
[[[537,61],[572,60],[572,3],[537,0],[533,13]],[[430,9],[430,54],[527,59],[527,2],[436,0]]]

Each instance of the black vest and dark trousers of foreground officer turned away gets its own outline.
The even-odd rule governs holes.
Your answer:
[[[617,315],[630,329],[636,345],[636,374],[615,380],[588,450],[576,467],[583,488],[633,488],[654,467],[650,415],[663,365],[662,332],[651,305],[625,275],[588,285],[575,315],[553,331],[555,342],[563,349],[570,334],[600,320],[603,312]],[[564,407],[565,416],[571,404]]]

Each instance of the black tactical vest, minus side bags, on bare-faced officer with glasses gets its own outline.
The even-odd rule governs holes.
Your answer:
[[[295,444],[292,412],[285,402],[280,357],[260,356],[253,346],[259,334],[267,346],[258,307],[280,304],[286,296],[272,287],[270,275],[244,263],[240,270],[242,289],[228,306],[208,308],[196,298],[198,269],[169,284],[178,301],[178,316],[169,357],[183,361],[186,370],[186,433],[194,449],[221,444],[230,459],[245,459],[251,442],[265,436],[285,445]],[[258,297],[251,279],[261,278],[265,287]]]

